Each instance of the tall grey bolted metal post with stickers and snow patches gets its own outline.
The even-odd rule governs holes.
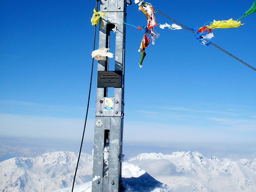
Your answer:
[[[122,22],[126,22],[126,6],[126,0],[100,2],[100,11],[106,13],[107,17],[100,18],[99,49],[109,48],[109,45],[113,47],[112,44],[115,43],[116,50],[115,62],[111,63],[108,58],[106,61],[98,61],[92,192],[122,190],[126,27]],[[115,42],[110,41],[110,35],[116,37]],[[108,71],[111,65],[115,65],[115,71]],[[114,97],[108,97],[108,87],[114,87]]]

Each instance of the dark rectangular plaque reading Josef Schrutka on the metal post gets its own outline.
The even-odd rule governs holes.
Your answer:
[[[97,87],[122,87],[122,71],[98,71]]]

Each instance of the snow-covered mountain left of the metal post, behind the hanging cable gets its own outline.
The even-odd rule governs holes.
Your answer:
[[[73,152],[50,152],[36,158],[15,157],[0,162],[0,191],[52,191],[73,184],[77,163]],[[81,154],[76,183],[92,180],[92,155]]]

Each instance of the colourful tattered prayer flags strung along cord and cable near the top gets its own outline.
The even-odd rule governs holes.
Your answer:
[[[136,26],[134,26],[132,24],[128,24],[128,23],[126,23],[124,21],[120,21],[120,20],[116,20],[116,19],[113,19],[111,17],[108,17],[103,12],[100,12],[100,11],[96,12],[95,9],[93,10],[94,13],[93,13],[93,16],[91,18],[91,22],[92,22],[92,25],[97,25],[98,21],[99,21],[99,18],[105,16],[105,17],[107,17],[109,19],[116,20],[118,22],[122,22],[125,25],[130,25],[130,26],[132,26],[134,28],[140,29],[141,32],[144,34],[144,37],[142,39],[141,46],[140,46],[141,50],[139,50],[139,51],[141,51],[140,62],[139,62],[140,68],[141,68],[142,67],[142,61],[144,60],[144,58],[146,56],[145,48],[149,44],[149,38],[147,37],[147,33],[152,38],[152,44],[155,44],[154,43],[155,39],[158,38],[158,36],[160,34],[158,34],[153,29],[155,26],[157,26],[157,23],[156,23],[154,12],[153,12],[153,10],[156,10],[156,9],[153,8],[152,4],[145,3],[143,0],[134,0],[134,3],[139,3],[139,10],[141,10],[146,15],[147,20],[148,20],[147,26],[142,27],[142,28],[140,28],[140,26],[136,27]],[[158,10],[156,10],[156,11],[158,11]],[[207,21],[206,23],[210,23],[210,25],[206,25],[206,23],[205,23],[204,27],[201,27],[201,28],[189,28],[189,27],[187,28],[184,25],[182,25],[182,24],[178,23],[177,21],[171,19],[170,17],[166,16],[164,13],[162,13],[162,12],[159,12],[159,13],[163,14],[164,16],[166,16],[167,18],[171,19],[172,21],[178,23],[183,28],[186,28],[189,31],[193,32],[194,36],[196,37],[196,39],[201,44],[203,44],[203,45],[210,45],[210,44],[213,44],[211,39],[212,39],[212,37],[214,37],[213,33],[211,33],[212,29],[216,29],[216,28],[237,28],[240,25],[244,25],[240,21],[243,17],[245,17],[245,16],[247,16],[249,14],[252,14],[254,12],[256,12],[256,0],[254,0],[254,3],[252,4],[252,7],[248,11],[246,11],[244,13],[244,15],[242,17],[240,17],[238,20],[233,20],[231,18],[229,20],[218,20],[218,21],[213,20],[213,22]],[[165,27],[168,27],[169,29],[175,30],[175,29],[181,29],[181,27],[179,25],[176,25],[176,24],[169,25],[169,24],[165,23],[164,25],[160,24],[159,27],[162,28],[162,29],[164,29]],[[213,45],[216,46],[215,44],[213,44]],[[219,47],[217,47],[217,48],[219,48]],[[231,54],[229,54],[229,55],[231,55]],[[235,59],[239,60],[235,56],[233,56],[233,55],[231,55],[231,56],[234,57]],[[241,60],[239,60],[239,61],[242,62]],[[242,62],[242,63],[244,63],[244,62]],[[246,63],[244,63],[244,64],[249,66]],[[249,67],[252,68],[251,66],[249,66]],[[252,69],[256,70],[255,68],[252,68]]]

